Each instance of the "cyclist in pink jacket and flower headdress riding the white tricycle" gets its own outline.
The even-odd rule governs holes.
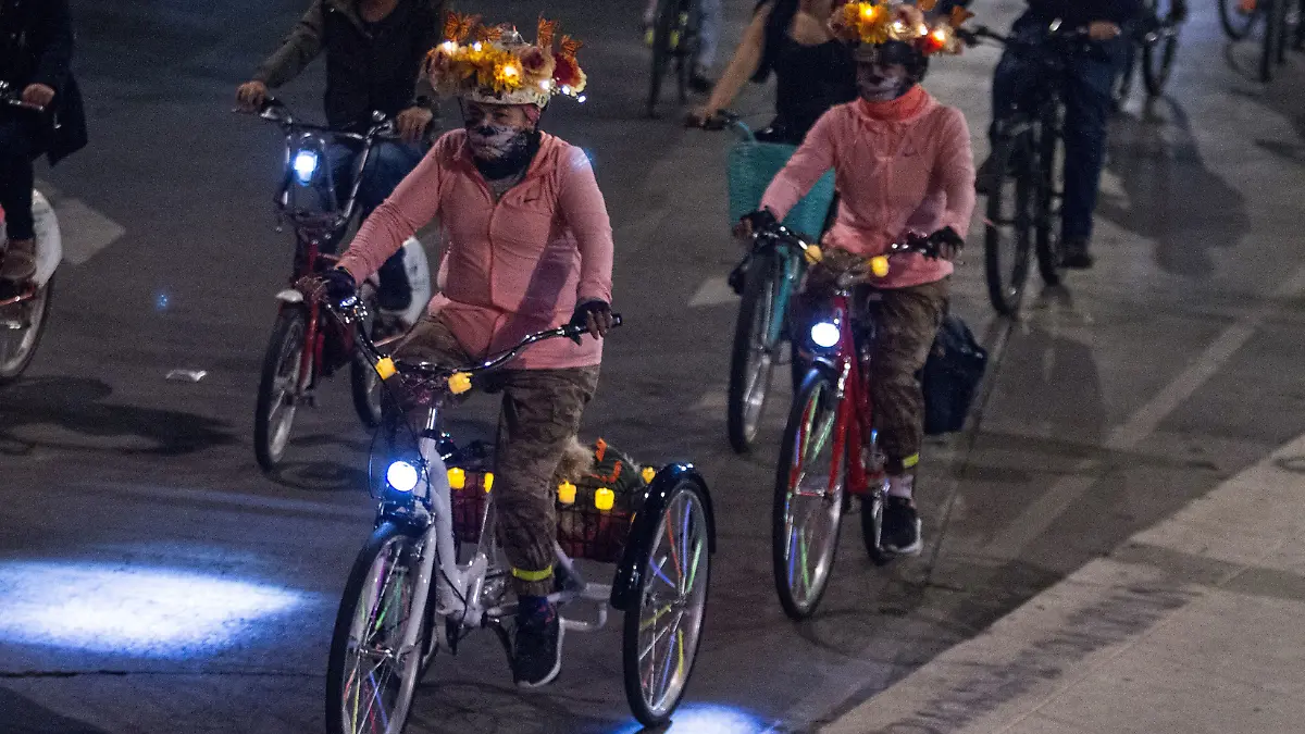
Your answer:
[[[553,94],[583,101],[579,44],[540,21],[539,39],[453,16],[431,51],[437,90],[462,99],[465,129],[436,141],[367,219],[331,298],[351,295],[415,230],[440,219],[442,293],[398,358],[466,364],[529,333],[578,323],[592,338],[551,340],[495,374],[504,405],[495,461],[500,541],[521,602],[513,675],[547,684],[561,670],[561,626],[548,602],[557,538],[551,478],[598,385],[600,337],[612,325],[612,226],[585,153],[539,129]]]

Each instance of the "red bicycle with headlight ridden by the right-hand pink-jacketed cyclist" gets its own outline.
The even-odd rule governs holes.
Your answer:
[[[814,247],[782,226],[769,227],[760,236],[808,252]],[[944,242],[941,234],[908,236],[891,244],[886,256],[870,259],[870,272],[877,277],[887,274],[889,257],[895,255],[937,257]],[[856,265],[861,264],[856,260]],[[793,398],[780,444],[771,547],[775,590],[784,613],[795,620],[810,616],[825,594],[848,496],[861,499],[861,530],[870,558],[883,564],[895,556],[881,543],[887,488],[865,383],[874,320],[852,317],[882,298],[853,269],[838,273],[829,300],[812,321],[804,350],[810,355],[810,367]]]

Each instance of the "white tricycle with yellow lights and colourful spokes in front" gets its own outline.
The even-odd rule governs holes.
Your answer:
[[[367,320],[358,298],[329,310],[347,324]],[[359,353],[385,387],[402,384],[408,396],[420,396],[424,419],[412,426],[405,411],[390,410],[398,424],[390,424],[388,438],[378,434],[373,441],[369,466],[384,468],[373,490],[376,529],[350,571],[335,618],[326,674],[328,731],[399,734],[416,686],[438,650],[455,656],[459,641],[474,631],[492,630],[510,658],[505,622],[515,615],[517,603],[508,598],[512,575],[499,552],[492,474],[483,474],[480,482],[470,479],[475,468],[468,455],[483,452],[467,451],[471,444],[459,449],[440,430],[442,409],[530,345],[578,340],[583,333],[572,325],[548,329],[482,363],[446,366],[392,359],[365,329],[354,330]],[[565,502],[565,487],[559,486],[560,513],[568,507],[574,512],[578,504],[574,486],[570,504]],[[604,526],[619,533],[616,546],[591,558],[616,563],[613,582],[590,584],[581,577],[561,543],[565,528],[577,524],[559,522],[557,590],[549,599],[559,607],[578,601],[599,605],[596,620],[564,616],[564,630],[602,628],[604,602],[625,613],[626,699],[636,718],[660,726],[679,705],[697,660],[715,550],[711,498],[688,464],[655,471],[629,512],[612,504],[604,509],[600,492],[578,526],[586,538],[592,538],[590,529],[604,533]],[[462,563],[459,550],[470,550]]]

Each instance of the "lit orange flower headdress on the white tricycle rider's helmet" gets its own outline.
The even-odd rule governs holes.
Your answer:
[[[582,43],[562,35],[555,50],[556,33],[557,21],[540,17],[531,44],[512,26],[449,13],[445,40],[427,54],[425,73],[436,91],[474,102],[543,107],[555,94],[585,102],[589,77],[576,60]]]

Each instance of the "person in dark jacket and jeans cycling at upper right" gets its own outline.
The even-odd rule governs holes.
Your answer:
[[[1028,10],[1015,21],[1011,35],[1021,43],[1043,43],[1051,25],[1083,29],[1091,40],[1087,52],[1067,60],[1065,85],[1065,199],[1061,206],[1061,242],[1066,268],[1091,268],[1087,251],[1092,213],[1105,165],[1105,132],[1114,78],[1126,52],[1121,27],[1142,13],[1141,0],[1028,0]],[[993,120],[1021,103],[1039,68],[1021,46],[1010,46],[992,82]],[[997,124],[994,123],[993,131]],[[979,171],[980,188],[993,187],[992,163]]]

